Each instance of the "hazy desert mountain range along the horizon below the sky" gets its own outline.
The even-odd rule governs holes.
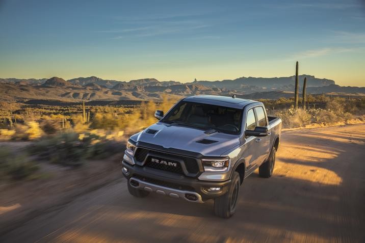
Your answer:
[[[300,75],[300,92],[304,77],[307,92],[312,94],[365,96],[364,87],[342,87],[334,80]],[[176,81],[160,82],[155,78],[143,78],[122,82],[101,79],[96,76],[65,80],[60,77],[49,79],[0,78],[0,100],[148,100],[162,99],[163,94],[184,97],[198,94],[232,95],[250,99],[276,99],[293,97],[295,76],[290,77],[240,77],[221,81],[194,80],[191,83]]]

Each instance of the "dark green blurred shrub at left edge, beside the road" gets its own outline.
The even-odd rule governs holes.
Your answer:
[[[34,174],[38,169],[26,153],[13,154],[8,148],[0,147],[0,174],[3,176],[20,180]]]

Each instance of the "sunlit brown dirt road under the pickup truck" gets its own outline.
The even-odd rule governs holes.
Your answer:
[[[276,162],[245,180],[228,220],[211,201],[134,198],[122,178],[0,242],[365,242],[365,125],[284,132]]]

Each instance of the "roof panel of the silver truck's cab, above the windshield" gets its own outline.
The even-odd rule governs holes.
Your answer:
[[[236,109],[243,109],[243,107],[248,104],[258,102],[250,99],[232,98],[219,95],[195,95],[185,98],[184,101],[220,105]]]

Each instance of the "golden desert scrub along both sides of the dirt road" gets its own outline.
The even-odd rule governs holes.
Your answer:
[[[284,128],[310,124],[336,125],[362,122],[365,98],[332,98],[308,95],[306,109],[298,99],[260,100],[268,114],[278,116]],[[88,159],[103,159],[122,153],[127,137],[156,120],[155,110],[167,112],[176,100],[119,106],[47,106],[0,104],[0,141],[28,142],[22,152],[0,147],[3,178],[32,178],[41,163],[79,168]],[[301,108],[300,108],[301,107]],[[31,159],[32,158],[32,159]],[[35,162],[37,161],[37,162]]]

